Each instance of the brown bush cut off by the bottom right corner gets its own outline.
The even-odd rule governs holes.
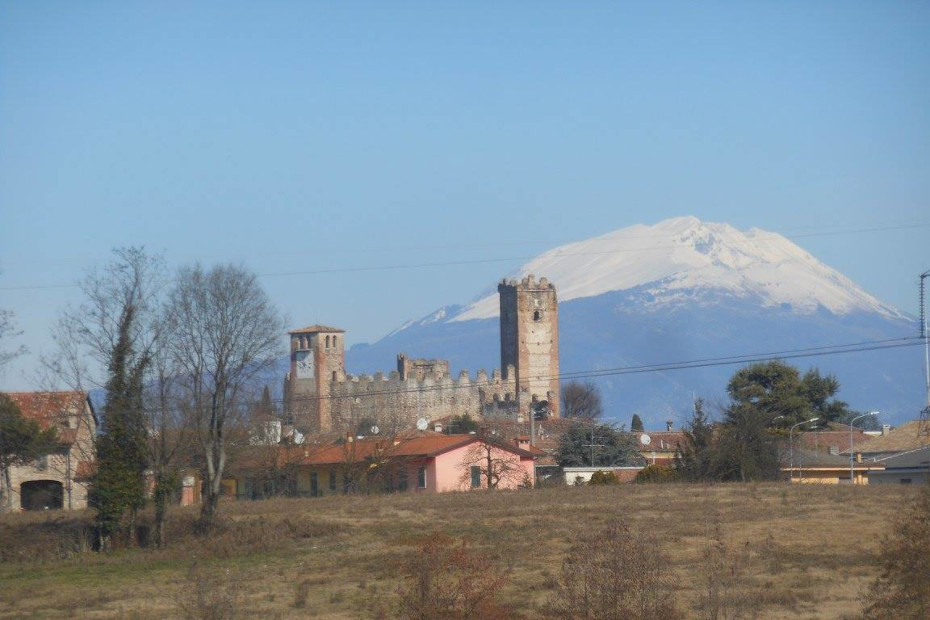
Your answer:
[[[882,573],[865,596],[865,617],[930,618],[930,485],[884,541],[879,562]]]

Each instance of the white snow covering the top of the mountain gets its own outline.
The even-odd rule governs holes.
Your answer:
[[[514,276],[535,274],[554,282],[562,302],[642,287],[642,309],[661,307],[695,290],[754,300],[763,307],[811,314],[825,308],[836,315],[874,312],[904,315],[838,271],[772,232],[740,231],[729,224],[679,217],[637,224],[534,258]],[[497,292],[489,292],[449,322],[498,316]]]

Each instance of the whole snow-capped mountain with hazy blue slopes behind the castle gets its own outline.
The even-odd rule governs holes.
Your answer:
[[[882,303],[781,235],[694,217],[636,225],[541,254],[509,277],[555,283],[564,373],[913,336],[915,321]],[[348,352],[354,372],[392,367],[403,351],[454,369],[499,361],[498,296],[440,308],[373,345]],[[869,351],[796,360],[840,380],[854,408],[893,421],[922,401],[921,352]],[[725,397],[733,366],[598,379],[608,415],[659,425],[687,416],[693,396]]]

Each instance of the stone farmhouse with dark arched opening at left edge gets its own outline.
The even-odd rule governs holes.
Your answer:
[[[87,507],[97,418],[86,392],[11,392],[24,417],[55,428],[58,449],[10,470],[13,510]]]

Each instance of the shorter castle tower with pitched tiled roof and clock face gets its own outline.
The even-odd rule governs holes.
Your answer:
[[[289,422],[312,432],[332,429],[332,383],[345,376],[345,330],[310,325],[288,332],[291,368],[284,378]]]

